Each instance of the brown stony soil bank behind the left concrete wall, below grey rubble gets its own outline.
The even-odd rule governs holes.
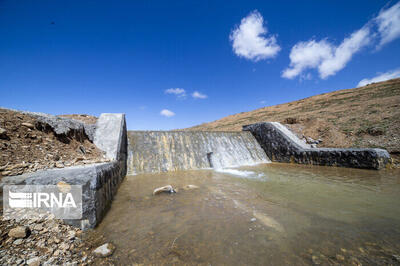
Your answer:
[[[104,161],[103,152],[87,138],[60,139],[52,131],[39,130],[36,122],[30,115],[0,109],[0,179],[38,169]]]

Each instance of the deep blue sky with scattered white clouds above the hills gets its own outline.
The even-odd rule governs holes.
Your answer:
[[[1,1],[0,106],[175,129],[353,88],[400,75],[399,6]]]

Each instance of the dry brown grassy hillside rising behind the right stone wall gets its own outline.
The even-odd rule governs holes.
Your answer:
[[[378,147],[400,153],[400,79],[324,93],[224,117],[185,130],[239,131],[278,121],[321,147]]]

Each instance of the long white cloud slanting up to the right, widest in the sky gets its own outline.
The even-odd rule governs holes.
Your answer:
[[[318,69],[319,76],[326,79],[343,69],[352,56],[371,41],[370,30],[363,27],[345,38],[339,46],[327,40],[299,42],[290,51],[290,66],[282,77],[292,79],[306,69]]]

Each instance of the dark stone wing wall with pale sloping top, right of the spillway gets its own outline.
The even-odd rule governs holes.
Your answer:
[[[250,131],[276,162],[381,169],[391,161],[382,149],[311,148],[277,122],[247,125],[243,130]]]

